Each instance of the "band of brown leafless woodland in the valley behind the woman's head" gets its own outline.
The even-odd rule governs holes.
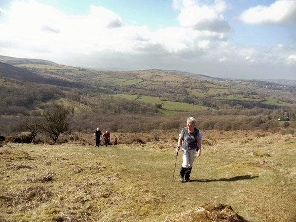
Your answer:
[[[96,109],[73,116],[71,128],[79,132],[91,132],[96,127],[110,132],[149,132],[153,130],[177,130],[186,126],[186,119],[193,116],[197,119],[200,130],[255,130],[268,131],[279,126],[280,116],[287,116],[295,120],[294,113],[281,111],[271,112],[267,109],[250,110],[205,110],[191,113],[175,113],[164,116],[155,113],[121,113],[109,112],[100,115]],[[288,126],[288,125],[286,125]]]

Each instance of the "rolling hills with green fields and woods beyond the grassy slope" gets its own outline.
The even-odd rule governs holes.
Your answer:
[[[163,122],[160,119],[167,115],[179,115],[178,119],[196,112],[198,115],[264,114],[266,120],[260,120],[263,124],[276,110],[281,113],[274,115],[276,119],[289,119],[296,107],[294,86],[267,81],[226,80],[159,69],[94,70],[11,57],[0,57],[0,61],[3,118],[39,116],[53,104],[63,104],[72,107],[73,118],[77,118],[73,124],[80,125],[81,130],[95,125],[91,120],[95,113],[99,115],[97,121],[113,131],[122,127],[135,131],[137,126],[132,124],[143,115],[155,120],[145,125],[145,130],[153,130],[160,127]],[[110,117],[102,118],[105,113]],[[115,123],[116,118],[124,118],[120,120],[122,124]],[[81,126],[82,119],[88,126]],[[213,124],[206,127],[214,127]],[[164,125],[161,127],[170,127]]]

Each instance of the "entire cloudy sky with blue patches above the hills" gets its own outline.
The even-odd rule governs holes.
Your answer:
[[[296,0],[0,0],[0,55],[296,80]]]

